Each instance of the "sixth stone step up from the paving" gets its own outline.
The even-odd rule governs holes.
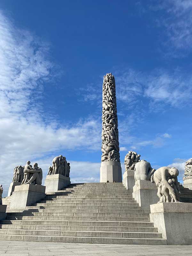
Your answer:
[[[147,217],[148,213],[103,213],[103,212],[8,212],[7,216],[97,216],[97,217]]]

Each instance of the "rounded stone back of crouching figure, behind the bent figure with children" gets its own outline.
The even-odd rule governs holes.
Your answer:
[[[151,164],[145,160],[141,160],[135,164],[134,179],[137,180],[151,180],[153,182],[153,174],[155,169],[151,167]],[[152,178],[152,179],[151,179]]]

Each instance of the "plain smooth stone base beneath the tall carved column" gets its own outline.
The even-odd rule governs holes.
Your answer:
[[[121,164],[116,161],[101,162],[100,182],[122,182]]]

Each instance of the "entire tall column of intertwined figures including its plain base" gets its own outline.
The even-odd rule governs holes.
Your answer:
[[[103,78],[101,151],[100,182],[122,182],[115,78],[111,73]]]

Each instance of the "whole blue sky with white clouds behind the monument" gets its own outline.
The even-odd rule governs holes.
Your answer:
[[[120,157],[184,171],[192,156],[192,1],[0,2],[0,183],[52,158],[99,182],[103,75],[116,79]]]

